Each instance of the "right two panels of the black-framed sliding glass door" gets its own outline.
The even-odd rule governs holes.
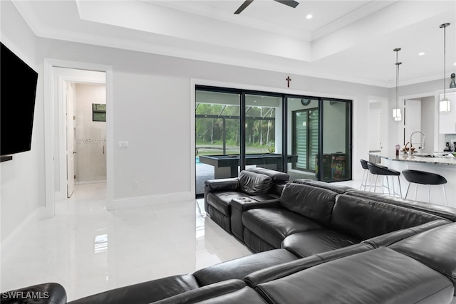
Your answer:
[[[290,96],[286,108],[291,179],[350,180],[351,100]]]

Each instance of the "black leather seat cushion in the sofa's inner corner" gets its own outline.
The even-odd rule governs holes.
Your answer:
[[[360,241],[337,231],[321,229],[291,234],[282,242],[282,248],[304,258],[316,253],[351,246]]]

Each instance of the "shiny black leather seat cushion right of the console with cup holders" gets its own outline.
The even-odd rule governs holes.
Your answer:
[[[245,211],[242,224],[274,248],[281,248],[282,241],[290,234],[324,228],[316,221],[281,208]]]

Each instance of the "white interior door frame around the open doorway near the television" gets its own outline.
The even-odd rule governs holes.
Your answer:
[[[105,72],[106,85],[106,194],[107,207],[112,209],[113,206],[113,68],[110,65],[99,65],[94,63],[82,63],[76,61],[62,61],[58,59],[45,58],[43,61],[43,95],[44,100],[44,134],[45,139],[45,177],[46,177],[46,215],[52,217],[56,213],[56,165],[54,151],[56,148],[56,124],[63,124],[63,115],[58,113],[58,122],[55,121],[55,114],[58,112],[58,96],[55,94],[53,68],[69,68],[78,70],[95,70]],[[59,80],[60,81],[60,80]],[[62,78],[63,81],[63,78]],[[60,92],[61,90],[59,90]],[[61,107],[60,107],[61,108]],[[59,132],[61,133],[61,132]],[[59,141],[61,142],[61,141]],[[65,142],[66,143],[66,142]],[[58,149],[61,152],[61,147]],[[59,157],[61,159],[61,157]],[[66,169],[66,166],[64,166]],[[61,166],[60,166],[61,168]],[[60,174],[62,176],[62,174]],[[65,174],[66,179],[66,174]],[[58,195],[58,194],[57,194]]]

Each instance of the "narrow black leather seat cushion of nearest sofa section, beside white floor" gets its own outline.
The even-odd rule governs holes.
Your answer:
[[[295,261],[298,257],[285,249],[264,251],[250,256],[242,256],[234,260],[222,262],[202,268],[193,273],[200,286],[205,286],[229,279],[242,280],[249,273],[260,269],[276,266],[289,261]]]

